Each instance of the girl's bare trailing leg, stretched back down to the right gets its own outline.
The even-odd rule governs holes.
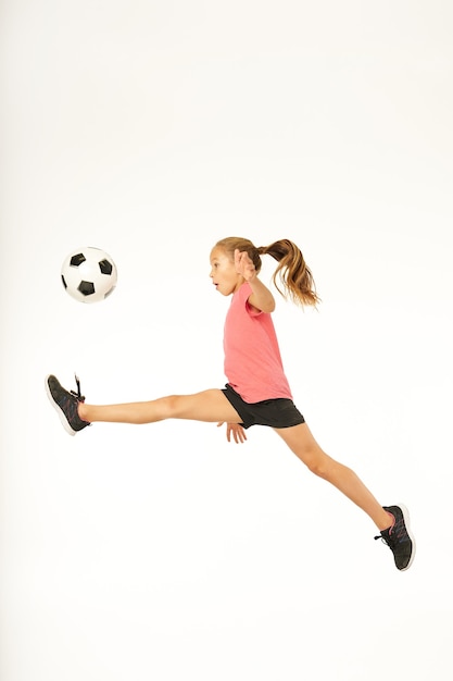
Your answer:
[[[306,423],[274,430],[312,473],[327,480],[340,490],[372,518],[379,530],[386,530],[392,524],[392,517],[382,508],[354,471],[323,451]]]

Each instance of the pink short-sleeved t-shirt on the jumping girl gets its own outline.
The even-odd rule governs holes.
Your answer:
[[[225,375],[247,403],[286,397],[292,399],[284,372],[270,314],[248,304],[247,282],[234,294],[225,320]]]

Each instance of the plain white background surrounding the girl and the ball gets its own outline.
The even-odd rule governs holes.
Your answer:
[[[4,0],[2,681],[451,680],[452,14]],[[230,235],[302,248],[294,400],[410,507],[410,571],[266,429],[61,428],[50,372],[95,403],[223,386]],[[61,286],[80,246],[116,261],[105,302]]]

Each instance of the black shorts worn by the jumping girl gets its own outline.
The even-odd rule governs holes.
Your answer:
[[[277,397],[276,399],[264,399],[261,403],[246,403],[228,383],[222,392],[239,413],[243,428],[251,425],[291,428],[305,423],[305,419],[295,408],[292,399]]]

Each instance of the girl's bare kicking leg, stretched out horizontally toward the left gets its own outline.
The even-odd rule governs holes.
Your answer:
[[[241,423],[242,419],[219,389],[194,395],[168,395],[150,401],[96,406],[79,403],[78,416],[93,423],[154,423],[164,419]]]

